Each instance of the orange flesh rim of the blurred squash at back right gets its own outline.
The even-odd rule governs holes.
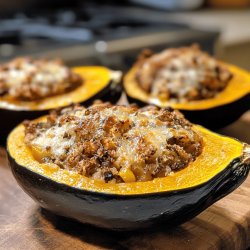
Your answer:
[[[135,65],[124,77],[124,88],[126,93],[134,98],[145,103],[155,104],[159,107],[171,106],[179,110],[204,110],[228,103],[232,103],[250,93],[250,74],[236,66],[223,63],[234,75],[228,86],[217,96],[199,101],[190,101],[186,103],[171,103],[162,101],[158,98],[150,97],[148,93],[143,91],[135,80],[135,74],[138,66]]]

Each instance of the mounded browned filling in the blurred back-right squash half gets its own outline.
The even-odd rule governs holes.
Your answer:
[[[152,56],[146,52],[138,64],[139,86],[153,97],[172,102],[212,98],[232,78],[225,66],[196,45],[167,49]]]

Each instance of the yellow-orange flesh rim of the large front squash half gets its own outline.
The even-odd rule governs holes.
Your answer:
[[[11,132],[7,146],[9,154],[18,165],[56,182],[94,192],[120,195],[146,194],[180,190],[205,183],[223,171],[232,160],[243,155],[244,146],[237,140],[220,136],[198,125],[195,125],[194,129],[204,138],[202,154],[188,167],[167,177],[148,182],[103,183],[63,170],[54,164],[39,163],[24,143],[23,125],[19,125]]]

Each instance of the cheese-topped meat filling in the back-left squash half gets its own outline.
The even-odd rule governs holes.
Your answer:
[[[60,60],[17,58],[0,65],[0,96],[21,101],[63,94],[82,83]]]

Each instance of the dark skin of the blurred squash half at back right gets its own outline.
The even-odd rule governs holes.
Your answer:
[[[128,94],[127,94],[128,95]],[[145,106],[149,103],[142,102],[128,95],[128,100],[131,103],[137,103],[139,106]],[[247,110],[250,109],[250,94],[244,97],[214,108],[202,110],[183,110],[180,111],[192,123],[202,125],[211,130],[218,130],[226,127],[240,118]]]

